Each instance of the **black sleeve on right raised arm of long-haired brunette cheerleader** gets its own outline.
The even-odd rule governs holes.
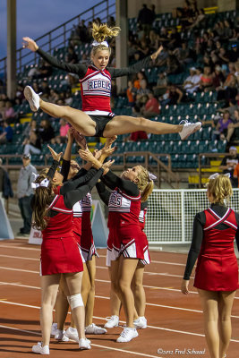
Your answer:
[[[97,174],[88,182],[87,184],[82,185],[80,188],[73,190],[71,192],[66,192],[64,194],[64,205],[68,209],[72,209],[73,205],[82,200],[83,197],[92,190],[93,186],[98,182],[100,176],[104,173],[104,169],[100,168],[97,171]]]

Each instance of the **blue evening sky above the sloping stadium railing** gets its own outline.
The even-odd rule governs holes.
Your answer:
[[[17,48],[21,38],[38,38],[64,21],[98,4],[100,0],[16,0]],[[0,0],[0,58],[6,55],[6,3]]]

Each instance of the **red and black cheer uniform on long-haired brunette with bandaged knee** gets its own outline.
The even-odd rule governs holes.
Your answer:
[[[54,161],[53,166],[48,171],[48,177],[54,176],[57,166],[58,162]],[[73,205],[81,200],[98,182],[103,169],[94,169],[93,173],[94,177],[81,187],[78,187],[79,181],[77,180],[61,187],[60,195],[56,194],[49,205],[47,227],[42,231],[41,275],[43,276],[81,272],[83,269],[81,253],[73,234]],[[72,190],[66,191],[66,186],[68,189],[71,187]],[[35,196],[32,200],[32,206],[34,207],[34,205]]]

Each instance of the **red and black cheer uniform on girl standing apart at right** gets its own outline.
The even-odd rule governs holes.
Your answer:
[[[239,247],[239,215],[224,205],[212,204],[193,222],[192,245],[184,272],[189,279],[198,258],[194,286],[207,291],[235,291],[238,265],[234,240]]]

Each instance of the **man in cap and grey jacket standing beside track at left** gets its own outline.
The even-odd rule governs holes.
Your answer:
[[[31,199],[33,197],[33,189],[31,183],[34,181],[32,173],[37,173],[35,166],[30,164],[30,154],[23,155],[23,166],[21,166],[18,183],[17,183],[17,197],[18,204],[21,210],[21,217],[23,219],[23,226],[18,234],[29,235],[31,225],[32,210],[30,206]]]

